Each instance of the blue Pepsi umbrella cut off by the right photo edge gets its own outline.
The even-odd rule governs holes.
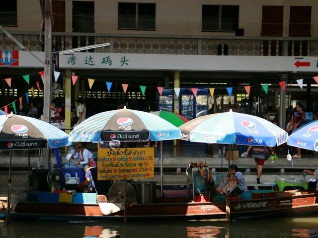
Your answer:
[[[297,130],[289,136],[287,145],[318,151],[318,120],[297,128]]]

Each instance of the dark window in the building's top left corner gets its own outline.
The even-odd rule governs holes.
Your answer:
[[[0,8],[0,25],[17,26],[16,0],[5,1]]]

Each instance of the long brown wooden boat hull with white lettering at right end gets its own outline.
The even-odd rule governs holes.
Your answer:
[[[77,196],[81,195],[86,196],[77,194]],[[95,194],[89,196],[96,199],[92,195]],[[257,193],[249,200],[232,197],[229,202],[230,216],[232,220],[236,220],[314,213],[318,211],[317,195],[316,190],[294,190]],[[16,204],[11,213],[11,219],[124,219],[125,212],[122,208],[122,204],[107,202],[103,195],[97,196],[97,202],[93,202],[93,199],[85,201],[85,198],[80,203],[74,203],[74,201],[24,201]],[[227,207],[225,201],[193,202],[181,197],[160,198],[157,203],[133,203],[127,206],[126,216],[128,220],[225,219],[227,217]]]

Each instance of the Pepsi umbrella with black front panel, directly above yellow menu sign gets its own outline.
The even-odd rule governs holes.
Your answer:
[[[101,112],[80,123],[69,140],[81,142],[146,142],[180,139],[180,129],[149,112],[127,108]]]

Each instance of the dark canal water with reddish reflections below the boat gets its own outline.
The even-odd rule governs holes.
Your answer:
[[[0,221],[1,238],[309,238],[318,214],[223,221]],[[316,233],[315,233],[316,231]],[[316,236],[309,236],[309,233]]]

